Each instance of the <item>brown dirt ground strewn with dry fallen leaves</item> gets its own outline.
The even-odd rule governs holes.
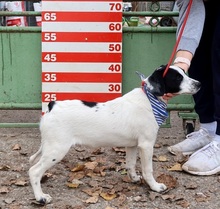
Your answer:
[[[37,122],[40,111],[0,111],[0,122]],[[0,129],[0,209],[219,209],[220,176],[193,176],[181,171],[186,158],[167,146],[184,138],[182,120],[171,114],[172,128],[162,128],[154,149],[154,176],[168,191],[152,192],[144,182],[129,181],[124,148],[72,148],[47,171],[43,191],[53,197],[46,206],[35,202],[29,183],[29,157],[40,145],[37,128]],[[140,160],[137,171],[140,173]]]

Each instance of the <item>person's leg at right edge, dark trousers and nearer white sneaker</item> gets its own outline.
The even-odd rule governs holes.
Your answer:
[[[220,172],[220,8],[216,17],[216,27],[212,45],[213,91],[217,129],[214,140],[195,152],[182,168],[196,175],[213,175]]]

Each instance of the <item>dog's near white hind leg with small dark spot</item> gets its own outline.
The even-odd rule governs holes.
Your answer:
[[[71,140],[70,140],[71,141]],[[69,151],[71,144],[50,143],[44,141],[42,144],[42,155],[40,160],[29,169],[30,183],[34,191],[35,198],[41,204],[51,202],[52,198],[44,194],[41,189],[41,178],[46,170],[63,159]]]

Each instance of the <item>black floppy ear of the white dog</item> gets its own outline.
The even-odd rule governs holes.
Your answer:
[[[150,89],[150,92],[156,96],[163,96],[165,93],[165,84],[163,79],[163,72],[165,69],[166,65],[161,65],[148,78],[148,82],[153,87]]]

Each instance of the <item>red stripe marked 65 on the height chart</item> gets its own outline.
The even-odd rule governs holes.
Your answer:
[[[56,20],[48,20],[48,13],[55,14]],[[46,14],[46,15],[45,15]],[[45,19],[46,17],[46,19]],[[121,12],[42,12],[42,21],[46,22],[121,22]]]

